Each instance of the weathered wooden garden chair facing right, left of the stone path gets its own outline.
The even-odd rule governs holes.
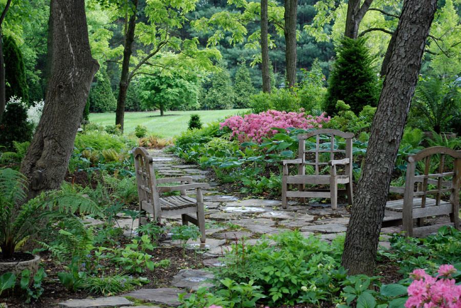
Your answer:
[[[181,215],[182,224],[189,222],[197,225],[200,229],[200,241],[205,242],[205,212],[203,205],[202,189],[208,189],[207,183],[193,183],[191,177],[155,178],[155,170],[152,157],[143,147],[133,150],[136,169],[136,183],[139,195],[139,211],[141,217],[139,224],[143,222],[145,213],[152,215],[154,221],[160,217]],[[157,184],[176,183],[181,185],[157,186]],[[187,189],[196,189],[196,199],[187,196]],[[180,191],[180,195],[159,197],[159,192]],[[193,214],[193,215],[190,215]]]

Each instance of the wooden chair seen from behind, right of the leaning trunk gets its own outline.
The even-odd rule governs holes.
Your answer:
[[[447,170],[447,156],[453,159],[453,168],[450,167],[449,170]],[[436,173],[429,173],[431,158],[433,165],[438,163]],[[408,155],[406,161],[405,187],[389,187],[390,192],[403,194],[403,199],[386,203],[386,212],[389,216],[387,221],[394,220],[403,224],[406,236],[422,237],[437,231],[444,225],[424,226],[426,217],[449,215],[450,225],[459,230],[461,151],[455,151],[444,146],[433,146],[414,155]],[[415,168],[419,161],[424,163],[422,164],[424,166],[423,174],[415,174]],[[443,193],[450,193],[448,201],[442,200]],[[435,199],[429,198],[428,195],[435,195]],[[417,227],[414,227],[413,220],[416,218]],[[385,225],[391,226],[389,222],[386,222]]]

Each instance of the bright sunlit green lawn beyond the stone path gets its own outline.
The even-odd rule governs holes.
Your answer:
[[[187,129],[187,123],[191,114],[200,115],[200,120],[206,126],[207,123],[224,119],[227,116],[241,114],[249,109],[228,109],[228,110],[200,110],[200,111],[168,111],[164,116],[160,112],[125,112],[123,133],[133,133],[137,125],[144,125],[150,133],[162,137],[174,137]],[[90,114],[90,122],[102,126],[115,124],[115,113]]]

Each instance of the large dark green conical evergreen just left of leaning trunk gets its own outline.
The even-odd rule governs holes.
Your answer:
[[[323,109],[330,116],[338,114],[338,100],[350,105],[357,115],[365,105],[376,106],[380,95],[380,82],[371,66],[374,58],[366,47],[366,38],[344,38],[341,43],[323,102]]]

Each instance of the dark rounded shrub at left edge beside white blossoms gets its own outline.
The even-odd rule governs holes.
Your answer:
[[[33,125],[27,121],[27,108],[19,100],[10,99],[0,121],[0,144],[13,150],[13,141],[32,139]]]

